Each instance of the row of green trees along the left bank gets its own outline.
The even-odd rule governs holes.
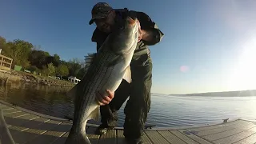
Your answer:
[[[20,39],[6,42],[6,39],[0,36],[0,49],[2,55],[13,58],[12,68],[18,65],[45,76],[82,78],[85,73],[84,60],[73,58],[66,62],[61,60],[58,54],[50,55],[46,51],[38,50],[32,43]]]

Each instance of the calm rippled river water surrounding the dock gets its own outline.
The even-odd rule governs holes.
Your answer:
[[[60,86],[41,86],[13,83],[0,86],[0,99],[28,110],[65,118],[74,110],[71,98]],[[192,126],[222,122],[224,118],[256,119],[256,96],[250,97],[203,97],[151,95],[151,109],[147,124],[159,127]],[[118,111],[118,126],[122,126],[125,115]],[[99,122],[94,122],[99,123]]]

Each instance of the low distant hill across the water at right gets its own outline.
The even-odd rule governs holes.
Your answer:
[[[171,94],[172,95],[172,94]],[[241,91],[223,91],[223,92],[210,92],[198,94],[183,94],[186,96],[222,96],[222,97],[243,97],[243,96],[256,96],[256,90],[241,90]]]

